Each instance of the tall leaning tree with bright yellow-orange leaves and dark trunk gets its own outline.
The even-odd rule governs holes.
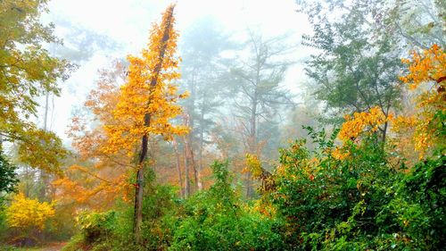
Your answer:
[[[120,100],[113,112],[117,122],[105,127],[109,135],[109,145],[105,151],[126,152],[135,155],[136,192],[135,226],[136,240],[140,236],[143,209],[143,180],[145,160],[150,136],[161,135],[171,139],[173,135],[184,135],[185,126],[175,126],[170,122],[180,114],[177,104],[178,87],[172,83],[179,78],[176,57],[178,32],[173,28],[174,4],[169,5],[162,15],[161,25],[153,24],[149,43],[142,56],[128,56],[128,81],[121,88]],[[139,146],[138,146],[139,145]]]

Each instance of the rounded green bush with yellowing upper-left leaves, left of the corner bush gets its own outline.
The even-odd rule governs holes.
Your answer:
[[[299,248],[299,242],[303,242],[302,249],[321,248],[323,237],[350,217],[361,222],[358,230],[375,235],[378,229],[370,219],[377,213],[376,205],[390,200],[386,184],[392,183],[389,177],[396,177],[386,165],[382,147],[351,145],[349,157],[337,160],[331,154],[336,134],[325,139],[321,138],[324,133],[311,133],[318,140],[318,152],[308,151],[304,141],[280,150],[277,190],[270,195],[277,213],[288,222],[287,242],[294,248]],[[351,216],[358,206],[364,212]]]

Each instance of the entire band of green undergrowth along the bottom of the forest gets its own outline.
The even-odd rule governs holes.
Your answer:
[[[445,156],[410,172],[388,161],[374,135],[348,145],[339,159],[335,133],[310,130],[318,147],[302,140],[280,150],[280,165],[252,210],[231,185],[227,162],[211,165],[214,184],[181,200],[175,189],[145,185],[142,241],[133,238],[133,207],[79,216],[75,250],[442,250],[446,237]]]

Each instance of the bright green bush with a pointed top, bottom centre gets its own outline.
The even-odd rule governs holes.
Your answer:
[[[169,250],[278,250],[277,222],[244,208],[229,183],[227,162],[211,166],[214,185],[180,207]]]

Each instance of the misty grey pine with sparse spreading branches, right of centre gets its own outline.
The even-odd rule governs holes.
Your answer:
[[[236,117],[242,124],[245,152],[260,155],[259,123],[270,123],[284,105],[293,105],[289,91],[280,86],[289,62],[280,57],[290,49],[284,38],[264,39],[253,33],[247,43],[250,57],[231,69]],[[247,172],[247,197],[252,197],[251,172]]]

